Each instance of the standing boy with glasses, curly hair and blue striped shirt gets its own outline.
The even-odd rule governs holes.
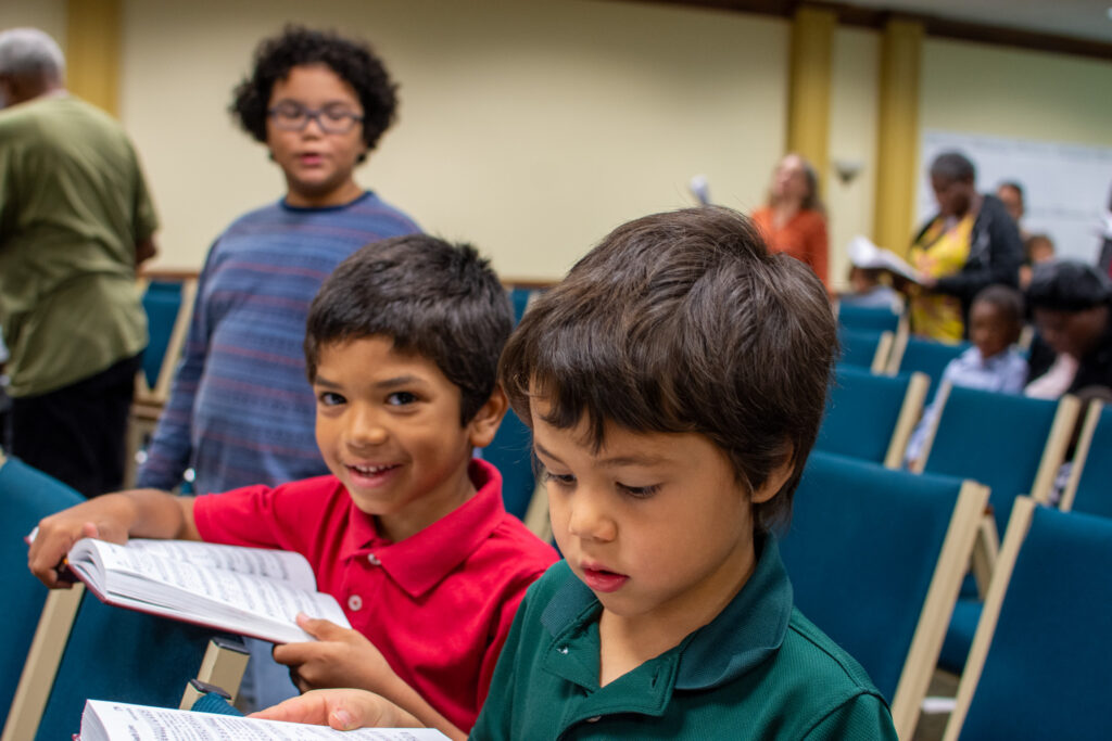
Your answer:
[[[278,201],[240,217],[205,262],[183,358],[137,485],[198,493],[277,485],[328,472],[314,440],[301,343],[309,302],[368,242],[419,232],[355,181],[394,121],[396,86],[364,43],[287,27],[264,40],[231,112],[286,178]],[[247,697],[294,693],[259,644]],[[267,679],[259,674],[269,665]],[[272,692],[268,688],[276,688]]]

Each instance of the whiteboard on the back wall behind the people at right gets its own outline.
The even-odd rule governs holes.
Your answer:
[[[962,152],[976,166],[981,192],[995,193],[1004,180],[1023,186],[1023,229],[1050,234],[1059,257],[1096,261],[1102,217],[1112,194],[1112,148],[927,129],[921,150],[924,174],[919,184],[916,223],[937,210],[926,169],[937,154],[951,150]]]

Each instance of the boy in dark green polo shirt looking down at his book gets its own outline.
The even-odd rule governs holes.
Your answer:
[[[499,375],[565,561],[528,592],[476,739],[895,739],[792,605],[773,527],[836,352],[822,283],[707,208],[612,232],[526,313]],[[355,691],[269,718],[405,725]]]

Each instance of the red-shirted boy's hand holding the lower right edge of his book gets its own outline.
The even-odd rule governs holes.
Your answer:
[[[357,687],[389,695],[393,685],[401,681],[361,633],[304,614],[297,617],[297,624],[317,640],[276,645],[274,657],[290,667],[294,683],[302,692]]]

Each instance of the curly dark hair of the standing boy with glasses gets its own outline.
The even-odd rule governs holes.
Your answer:
[[[375,149],[396,118],[398,86],[374,50],[363,41],[334,31],[287,26],[280,36],[264,39],[255,50],[255,70],[236,86],[229,111],[256,140],[267,140],[267,107],[275,82],[302,64],[326,64],[355,88],[363,106],[363,140]],[[359,158],[361,162],[366,154]]]

